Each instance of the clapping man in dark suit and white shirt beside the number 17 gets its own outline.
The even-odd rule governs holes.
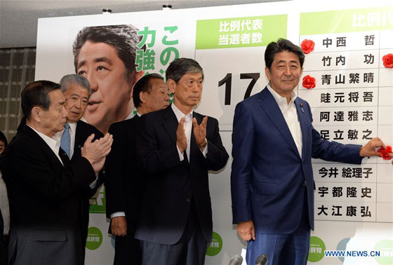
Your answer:
[[[218,121],[193,111],[204,81],[198,62],[174,60],[166,80],[174,103],[143,115],[138,128],[147,184],[135,238],[142,264],[204,264],[213,229],[208,170],[223,168],[228,154]]]

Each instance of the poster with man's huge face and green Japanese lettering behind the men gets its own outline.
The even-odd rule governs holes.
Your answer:
[[[165,76],[168,64],[180,55],[187,57],[187,41],[179,41],[186,27],[180,22],[136,21],[86,27],[86,22],[74,19],[58,25],[51,39],[43,34],[39,40],[36,79],[85,76],[92,93],[84,118],[102,132],[135,114],[133,86],[140,77]]]

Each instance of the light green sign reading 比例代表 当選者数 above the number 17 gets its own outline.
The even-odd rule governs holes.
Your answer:
[[[196,21],[196,50],[267,46],[286,38],[287,15]]]

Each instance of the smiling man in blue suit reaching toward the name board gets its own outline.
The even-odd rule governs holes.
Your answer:
[[[293,91],[305,55],[291,41],[272,42],[265,51],[269,84],[240,102],[232,134],[233,222],[248,240],[247,264],[267,254],[269,264],[307,264],[314,229],[311,158],[360,164],[384,146],[374,138],[363,148],[323,140],[312,127],[309,104]]]

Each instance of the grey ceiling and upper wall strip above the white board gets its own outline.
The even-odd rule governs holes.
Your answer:
[[[173,9],[181,9],[273,1],[282,0],[0,0],[0,48],[36,46],[38,18],[94,15],[102,13],[102,8],[110,8],[112,13],[125,13],[161,10],[164,4],[171,4]]]

